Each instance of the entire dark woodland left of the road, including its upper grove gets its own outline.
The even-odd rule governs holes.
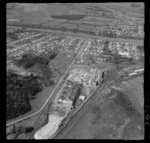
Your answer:
[[[7,71],[7,112],[6,120],[25,114],[32,109],[30,100],[36,98],[36,94],[45,86],[54,84],[52,70],[49,61],[56,57],[56,53],[49,52],[40,56],[24,54],[21,59],[15,59],[14,64],[37,73],[37,76],[22,76]],[[44,86],[44,87],[43,87]]]

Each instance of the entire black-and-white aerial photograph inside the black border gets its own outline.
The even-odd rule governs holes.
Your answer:
[[[7,140],[144,140],[144,3],[7,3]]]

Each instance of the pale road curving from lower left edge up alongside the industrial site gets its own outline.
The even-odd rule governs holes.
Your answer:
[[[87,44],[89,44],[89,41],[84,41],[84,44],[83,44],[83,46],[81,47],[80,51],[78,52],[77,56],[76,56],[75,59],[71,62],[71,64],[68,66],[68,69],[65,71],[65,73],[63,74],[63,76],[60,78],[60,80],[58,81],[56,87],[54,88],[54,90],[52,91],[52,93],[50,94],[50,96],[47,98],[47,100],[45,101],[45,103],[42,105],[42,107],[41,107],[38,111],[36,111],[35,113],[33,113],[33,114],[31,114],[31,115],[28,115],[28,116],[26,116],[26,117],[23,117],[23,118],[21,118],[21,119],[18,119],[18,120],[16,120],[16,121],[13,121],[13,122],[11,122],[11,123],[8,123],[8,124],[6,124],[6,126],[12,125],[12,124],[14,124],[14,123],[17,123],[17,122],[20,122],[20,121],[25,120],[25,119],[27,119],[27,118],[30,118],[30,117],[32,117],[32,116],[35,116],[35,115],[37,115],[38,113],[40,113],[40,112],[44,109],[44,107],[47,105],[47,103],[49,102],[49,100],[50,100],[51,98],[53,98],[53,96],[55,96],[54,92],[57,90],[57,87],[58,87],[59,84],[62,82],[63,78],[65,77],[65,75],[67,74],[67,72],[71,69],[71,67],[72,67],[72,65],[74,64],[75,60],[80,56],[80,54],[82,53],[82,51],[84,50],[84,48],[87,46]]]

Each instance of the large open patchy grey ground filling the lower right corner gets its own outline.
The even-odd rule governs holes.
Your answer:
[[[134,83],[136,85],[136,82]],[[140,90],[137,93],[140,94]],[[72,123],[73,126],[70,129],[67,127],[56,138],[143,139],[143,114],[138,110],[139,108],[135,107],[140,106],[134,103],[135,98],[133,100],[126,95],[127,93],[115,92],[115,90],[110,92],[108,89],[99,94],[106,95],[103,99],[97,98],[87,112]],[[133,94],[132,92],[130,96]]]

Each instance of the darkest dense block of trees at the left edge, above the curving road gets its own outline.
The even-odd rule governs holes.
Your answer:
[[[12,72],[7,73],[6,120],[13,119],[31,110],[30,100],[42,88],[37,77],[24,77]]]

